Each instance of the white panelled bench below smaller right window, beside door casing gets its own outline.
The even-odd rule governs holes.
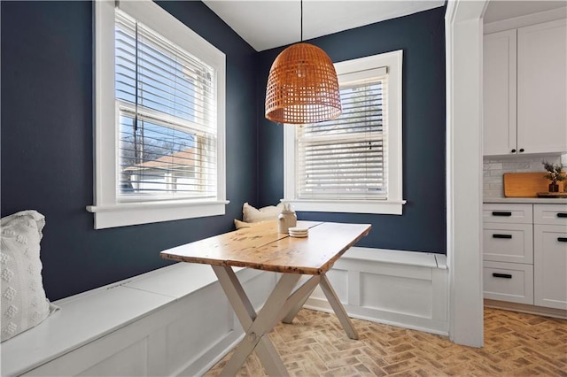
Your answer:
[[[448,334],[445,255],[354,247],[328,276],[353,318]],[[331,311],[319,288],[306,307]]]

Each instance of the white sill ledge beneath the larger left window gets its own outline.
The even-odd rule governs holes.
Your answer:
[[[226,204],[229,201],[88,205],[87,211],[95,214],[95,229],[105,229],[223,215]]]

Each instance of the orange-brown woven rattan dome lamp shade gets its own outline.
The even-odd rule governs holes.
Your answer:
[[[335,66],[325,51],[309,43],[293,44],[274,60],[266,86],[266,118],[305,124],[341,113]]]

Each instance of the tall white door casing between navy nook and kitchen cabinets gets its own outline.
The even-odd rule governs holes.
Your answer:
[[[449,337],[483,345],[482,38],[487,0],[447,3]]]

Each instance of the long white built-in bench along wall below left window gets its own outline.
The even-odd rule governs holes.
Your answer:
[[[237,276],[258,307],[276,281]],[[209,265],[169,265],[53,304],[61,310],[2,343],[3,376],[198,375],[243,335]]]

